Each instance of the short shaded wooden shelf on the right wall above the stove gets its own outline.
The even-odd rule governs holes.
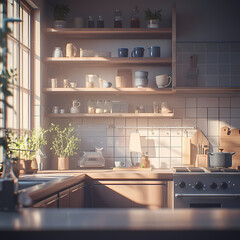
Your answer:
[[[176,87],[176,93],[240,93],[240,87]]]

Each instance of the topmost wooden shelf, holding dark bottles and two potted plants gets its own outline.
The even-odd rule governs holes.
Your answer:
[[[83,39],[171,39],[171,28],[47,28],[47,34]]]

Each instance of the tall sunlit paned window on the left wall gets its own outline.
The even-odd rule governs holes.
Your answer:
[[[8,35],[8,70],[16,70],[17,76],[12,79],[12,93],[8,102],[13,108],[7,109],[7,128],[31,129],[31,17],[32,10],[24,2],[8,0],[8,17],[20,18],[22,22],[8,24],[12,33]]]

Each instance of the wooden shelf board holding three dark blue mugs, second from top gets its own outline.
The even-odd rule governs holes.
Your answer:
[[[152,57],[142,57],[142,58],[131,58],[131,57],[112,57],[112,58],[104,58],[104,57],[46,57],[44,58],[46,63],[80,63],[80,64],[161,64],[161,65],[171,65],[172,58],[152,58]]]

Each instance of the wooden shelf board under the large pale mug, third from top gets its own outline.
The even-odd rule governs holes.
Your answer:
[[[49,94],[114,94],[114,95],[141,95],[141,94],[173,94],[172,88],[44,88]]]

